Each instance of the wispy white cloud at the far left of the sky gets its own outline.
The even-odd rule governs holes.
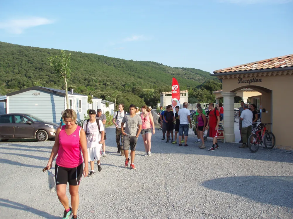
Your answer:
[[[21,34],[25,29],[30,27],[37,27],[40,25],[52,24],[54,21],[47,18],[26,18],[26,19],[13,19],[0,22],[0,29],[5,29],[13,34]]]

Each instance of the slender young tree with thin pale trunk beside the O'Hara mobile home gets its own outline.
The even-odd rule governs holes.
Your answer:
[[[61,55],[55,55],[54,57],[50,57],[48,59],[50,66],[53,67],[54,71],[57,72],[64,79],[67,109],[69,109],[67,78],[70,78],[71,73],[70,57],[71,53],[67,54],[64,50],[61,50]]]

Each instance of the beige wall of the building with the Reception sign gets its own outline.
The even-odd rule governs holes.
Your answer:
[[[262,94],[262,106],[268,113],[262,114],[262,122],[270,123],[272,114],[272,132],[276,137],[276,146],[279,148],[293,150],[292,138],[289,130],[292,128],[292,114],[285,114],[288,109],[293,109],[292,85],[293,75],[275,75],[256,77],[261,82],[251,84],[238,84],[238,78],[223,79],[223,92],[235,92],[242,88],[252,88]],[[243,78],[253,79],[253,78]],[[273,107],[271,110],[271,92]],[[286,105],[284,106],[284,102]]]

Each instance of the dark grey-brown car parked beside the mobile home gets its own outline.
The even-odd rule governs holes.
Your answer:
[[[30,114],[1,114],[0,139],[8,141],[13,138],[35,138],[46,141],[55,138],[58,124],[45,122]]]

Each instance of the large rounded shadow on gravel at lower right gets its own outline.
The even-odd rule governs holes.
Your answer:
[[[293,208],[291,176],[236,176],[209,180],[202,185],[264,204]]]

